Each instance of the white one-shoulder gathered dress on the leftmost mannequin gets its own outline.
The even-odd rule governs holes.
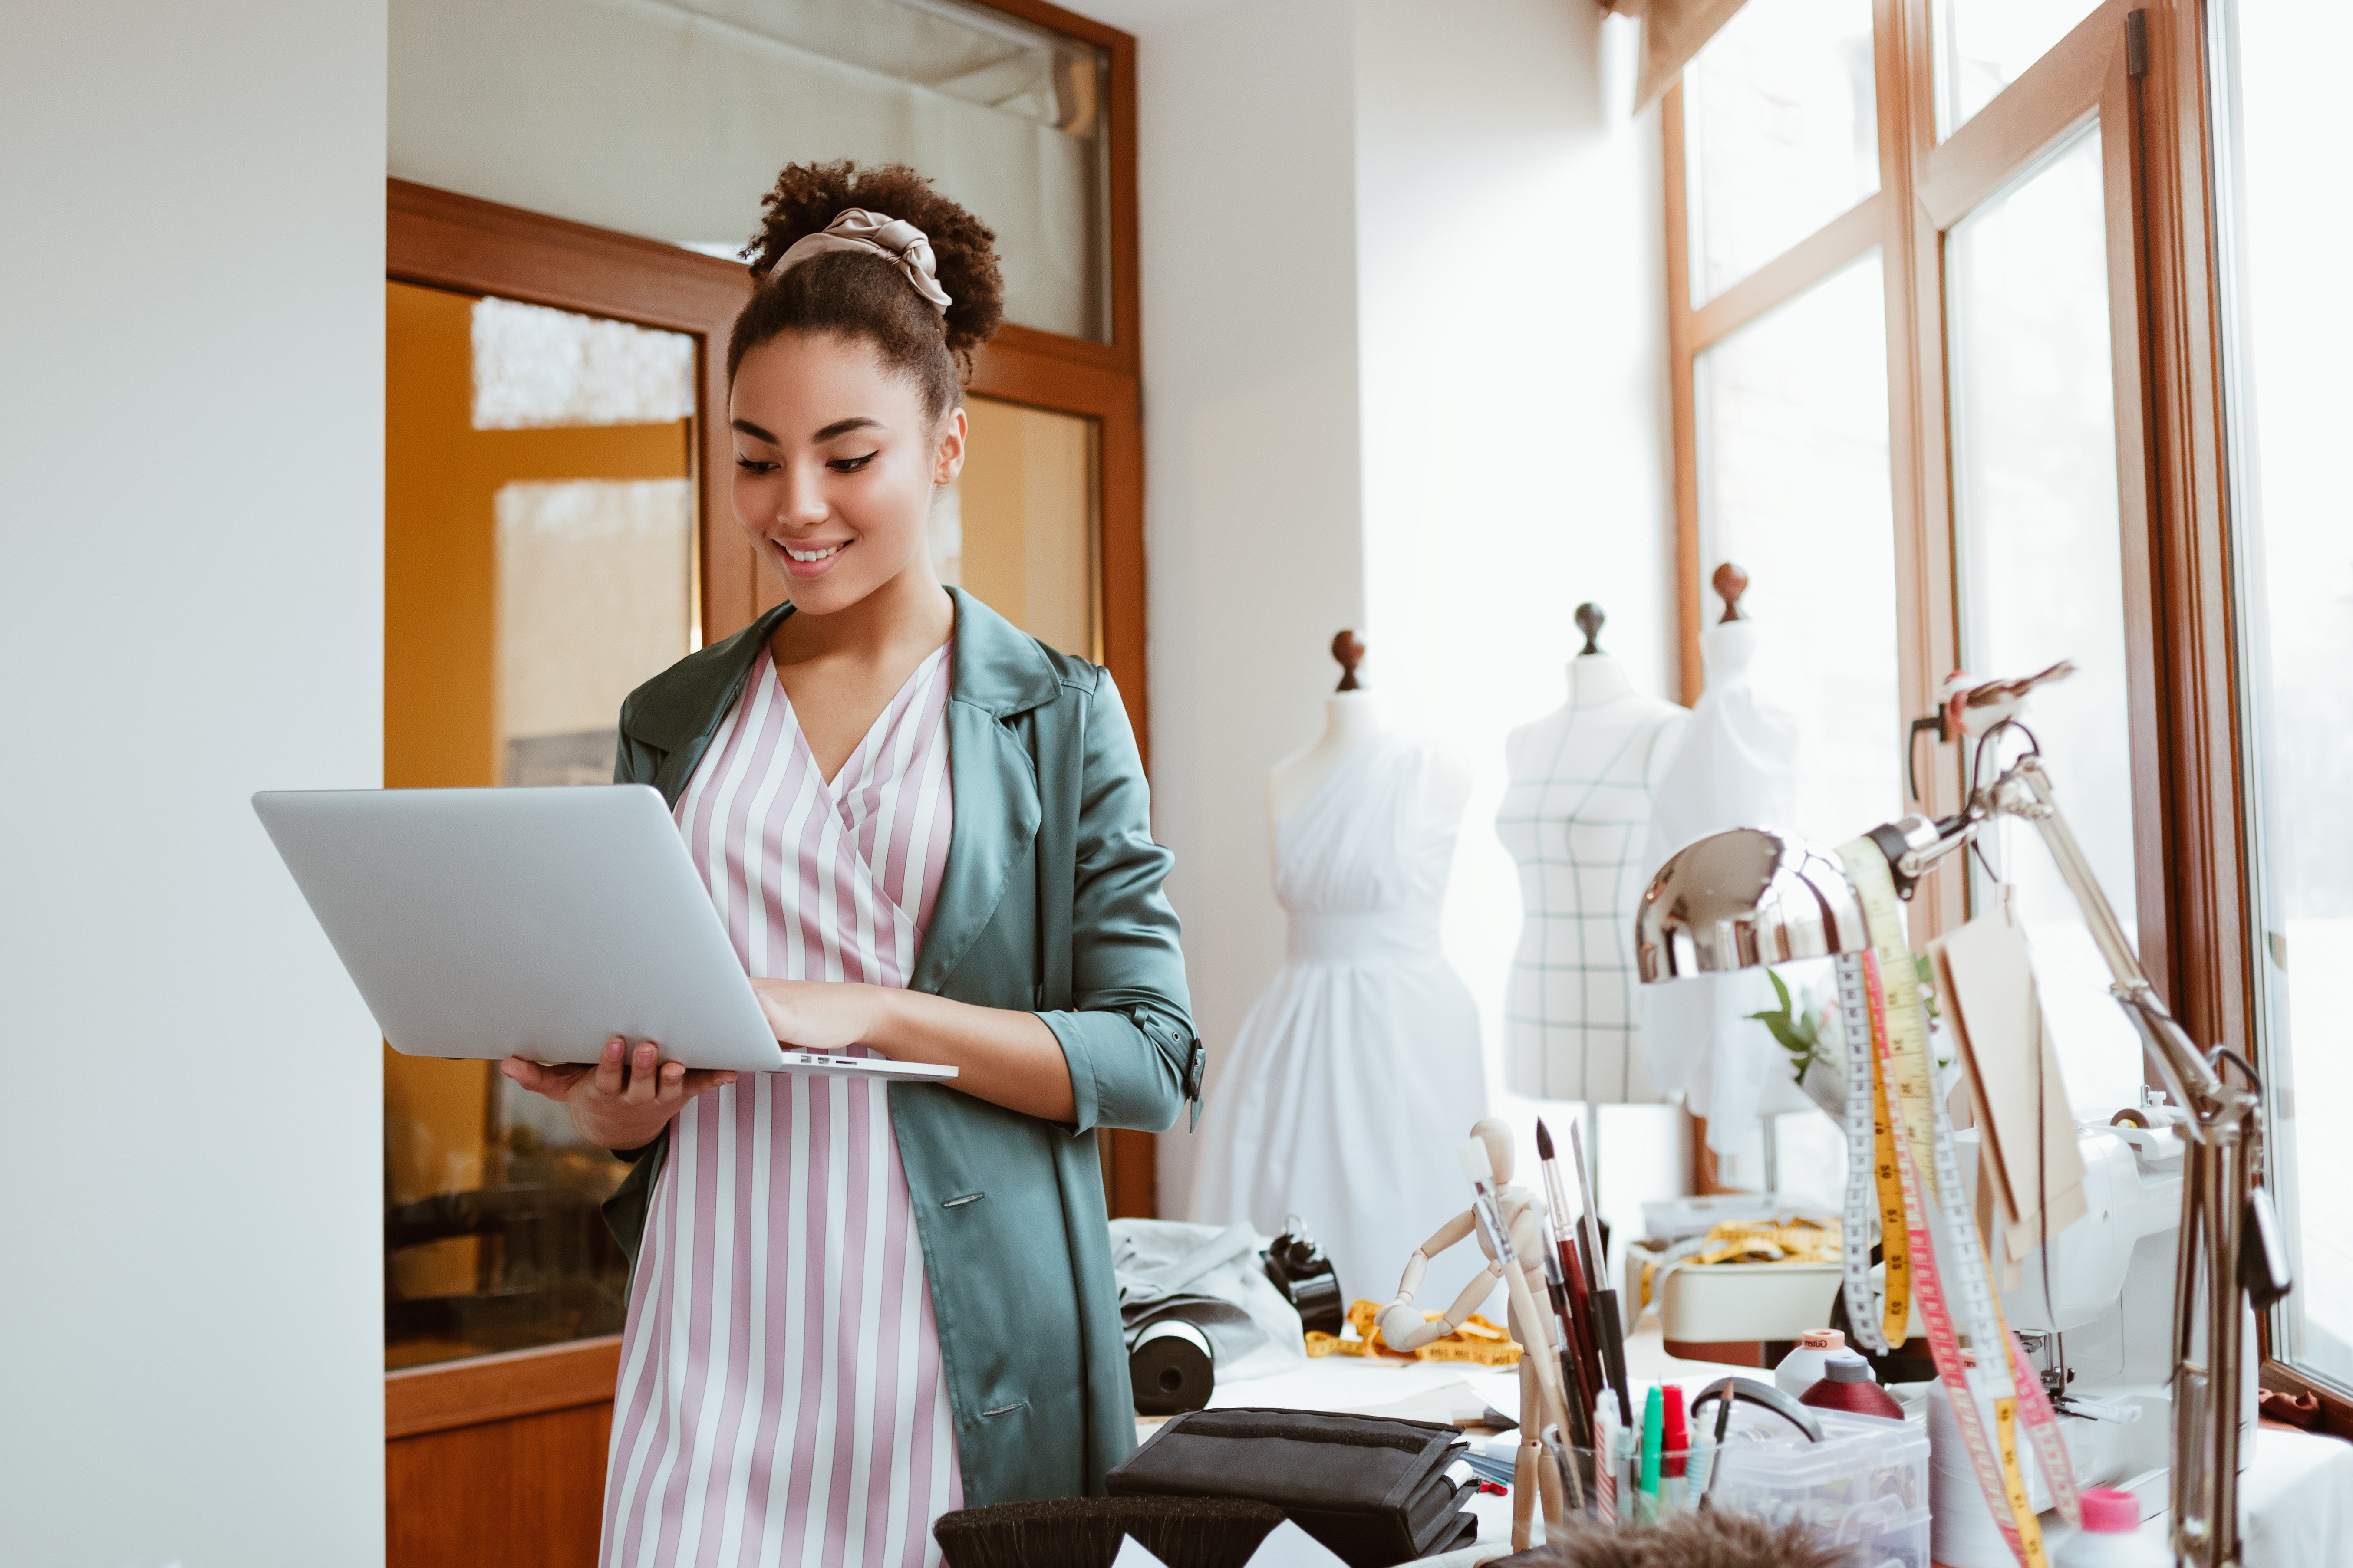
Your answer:
[[[1191,1213],[1264,1234],[1297,1213],[1344,1300],[1379,1300],[1461,1208],[1457,1147],[1487,1114],[1478,1004],[1438,945],[1468,778],[1367,693],[1329,712],[1271,780],[1289,952],[1202,1107]]]

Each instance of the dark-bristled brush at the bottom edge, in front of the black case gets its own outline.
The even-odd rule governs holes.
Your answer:
[[[1111,1568],[1127,1535],[1174,1568],[1242,1568],[1278,1523],[1247,1497],[1054,1497],[941,1514],[932,1540],[948,1568]]]

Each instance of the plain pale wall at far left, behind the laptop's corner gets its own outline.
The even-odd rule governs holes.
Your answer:
[[[381,0],[9,7],[0,1561],[384,1556],[376,1039],[245,797],[381,778]]]

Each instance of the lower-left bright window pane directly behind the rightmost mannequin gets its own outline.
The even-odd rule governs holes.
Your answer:
[[[1904,809],[1880,254],[1699,355],[1701,559],[1739,562],[1758,677],[1798,715],[1798,820],[1845,844]]]

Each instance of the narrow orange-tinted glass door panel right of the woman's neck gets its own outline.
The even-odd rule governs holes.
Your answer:
[[[1059,654],[1104,658],[1092,418],[965,397],[965,473],[932,508],[932,567]]]

